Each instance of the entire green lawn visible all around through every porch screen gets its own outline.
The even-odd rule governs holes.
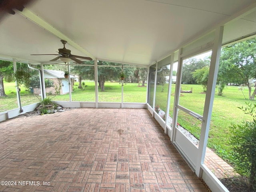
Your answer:
[[[84,90],[81,90],[78,89],[78,82],[75,83],[72,92],[72,101],[95,102],[95,83],[85,81],[85,84],[86,87]],[[172,84],[170,116],[172,116],[173,112],[175,86],[175,84]],[[4,87],[8,97],[0,98],[0,112],[18,108],[15,84],[4,82]],[[190,90],[191,87],[193,88],[193,93],[182,93],[180,95],[179,104],[203,115],[206,94],[202,93],[201,85],[184,84],[182,85],[182,90]],[[138,84],[127,83],[124,84],[123,88],[124,102],[146,102],[146,87],[138,87]],[[99,88],[99,102],[121,102],[121,90],[122,84],[119,84],[119,82],[106,82],[104,92],[101,92]],[[163,92],[161,92],[161,90],[162,86],[157,85],[155,105],[159,105],[160,108],[165,111],[168,84],[164,85]],[[153,92],[154,89],[150,88],[150,104],[152,103]],[[243,92],[245,96],[248,97],[248,89],[245,88]],[[39,102],[38,98],[24,88],[21,88],[20,94],[22,106]],[[52,100],[69,101],[69,94],[58,95],[52,98]],[[238,90],[237,86],[228,86],[224,90],[224,96],[216,95],[214,98],[208,147],[214,149],[223,159],[231,162],[232,159],[229,156],[231,148],[228,143],[228,138],[230,138],[229,126],[233,123],[239,123],[242,120],[250,120],[250,116],[244,114],[242,110],[237,108],[238,106],[243,106],[245,101],[242,92]],[[190,131],[196,138],[200,138],[201,122],[199,120],[179,110],[178,123]]]

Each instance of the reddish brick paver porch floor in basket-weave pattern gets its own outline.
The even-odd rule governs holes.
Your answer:
[[[206,192],[146,109],[77,108],[0,123],[1,192]]]

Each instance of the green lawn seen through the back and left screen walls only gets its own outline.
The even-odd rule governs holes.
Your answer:
[[[72,92],[72,101],[95,102],[95,82],[84,81],[84,90],[78,89],[78,82],[75,82]],[[124,83],[123,102],[146,102],[146,87],[138,87],[136,83]],[[21,87],[20,98],[22,106],[40,102],[29,90]],[[7,97],[0,98],[0,112],[18,108],[16,87],[14,82],[4,82],[4,90]],[[119,82],[106,82],[105,91],[99,88],[99,102],[121,102],[122,84]],[[69,101],[69,94],[48,95],[52,100]]]

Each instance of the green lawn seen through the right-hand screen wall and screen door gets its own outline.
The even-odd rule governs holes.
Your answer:
[[[161,92],[162,86],[157,85],[156,88],[156,103],[162,110],[166,110],[167,101],[167,85],[164,85],[164,92]],[[182,85],[182,90],[190,90],[192,93],[181,93],[179,104],[197,114],[203,115],[204,102],[206,94],[202,93],[201,85]],[[172,108],[174,102],[175,84],[172,84],[172,94],[170,100],[170,116],[172,116]],[[244,94],[248,98],[248,89],[244,89]],[[210,123],[210,131],[208,136],[208,147],[215,150],[224,160],[232,162],[230,156],[231,146],[228,138],[230,138],[229,126],[240,123],[242,120],[250,120],[250,116],[244,114],[238,107],[244,106],[245,100],[242,92],[237,86],[227,86],[224,90],[224,96],[215,95],[212,109],[212,117]],[[250,101],[255,102],[255,101]],[[182,110],[178,112],[178,123],[191,132],[196,138],[200,138],[201,121],[186,114]]]

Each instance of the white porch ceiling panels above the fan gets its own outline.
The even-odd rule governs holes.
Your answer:
[[[30,54],[57,54],[65,39],[75,55],[148,66],[250,4],[255,0],[36,0],[0,21],[0,55],[48,62],[55,56]],[[226,24],[223,39],[253,32],[255,12]]]

